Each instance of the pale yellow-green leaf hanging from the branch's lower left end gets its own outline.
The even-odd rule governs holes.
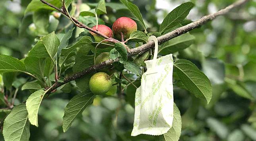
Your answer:
[[[38,110],[44,95],[45,95],[44,90],[38,90],[32,93],[26,101],[29,122],[32,125],[35,125],[37,127],[38,127]]]

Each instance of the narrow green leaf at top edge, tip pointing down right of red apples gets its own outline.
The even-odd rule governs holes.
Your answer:
[[[144,27],[145,32],[146,32],[146,26],[144,24],[142,14],[140,13],[139,8],[135,5],[129,2],[128,0],[120,0],[140,21],[140,24]]]

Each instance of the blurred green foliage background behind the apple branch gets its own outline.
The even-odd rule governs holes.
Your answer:
[[[107,2],[118,0],[107,0]],[[235,0],[191,0],[195,7],[188,19],[199,19],[228,6]],[[33,26],[22,30],[25,8],[30,0],[0,1],[0,54],[22,59],[38,37]],[[83,0],[89,6],[97,1]],[[158,31],[163,18],[176,6],[187,0],[133,0],[149,27]],[[114,15],[124,16],[125,10],[114,10],[113,15],[101,17],[108,25]],[[58,28],[67,19],[62,18]],[[19,30],[20,29],[20,30]],[[20,33],[19,33],[20,32]],[[256,140],[256,1],[250,0],[244,8],[217,17],[190,32],[196,40],[189,48],[175,56],[192,61],[211,80],[213,97],[209,105],[196,99],[188,91],[174,89],[175,103],[182,115],[181,141],[251,141]],[[72,40],[70,41],[72,42]],[[10,77],[11,79],[11,77]],[[14,78],[15,88],[24,78]],[[175,82],[174,82],[175,83]],[[129,86],[126,99],[135,89]],[[31,126],[31,141],[135,141],[156,140],[154,136],[131,137],[134,108],[124,99],[97,97],[63,133],[62,116],[69,99],[78,93],[57,92],[44,100],[39,110],[39,127]],[[29,91],[19,91],[16,103],[25,101]],[[1,120],[2,124],[2,120]],[[0,140],[3,140],[2,134]]]

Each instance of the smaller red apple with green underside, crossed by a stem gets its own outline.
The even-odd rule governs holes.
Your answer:
[[[96,25],[92,28],[93,30],[96,30]],[[108,26],[106,25],[98,25],[98,29],[97,29],[99,32],[101,32],[101,34],[105,35],[105,36],[108,36],[109,38],[111,38],[113,36],[113,31],[111,30],[111,28],[109,28]],[[104,40],[103,37],[93,33],[93,32],[90,32],[94,39],[95,39],[95,42],[101,42],[102,40]]]

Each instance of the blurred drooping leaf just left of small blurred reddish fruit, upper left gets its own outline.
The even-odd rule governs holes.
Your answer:
[[[49,26],[49,12],[46,10],[35,11],[33,14],[33,23],[36,27],[36,33],[38,36],[45,36],[48,34]]]

